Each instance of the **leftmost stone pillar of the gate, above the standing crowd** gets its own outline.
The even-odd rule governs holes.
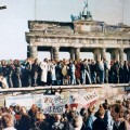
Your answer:
[[[29,56],[32,57],[32,58],[38,57],[38,48],[37,48],[37,46],[30,46],[29,47]]]

